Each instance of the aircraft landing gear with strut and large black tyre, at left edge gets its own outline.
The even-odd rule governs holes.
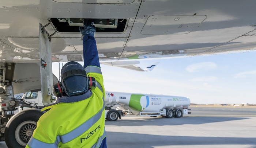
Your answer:
[[[19,69],[26,71],[26,73],[19,73],[19,77],[14,81],[20,86],[16,89],[26,90],[24,88],[26,86],[38,88],[40,81],[38,80],[39,77],[36,77],[39,75],[36,72],[30,75],[31,71],[38,68],[36,64],[0,62],[0,141],[5,141],[8,148],[24,148],[43,112],[40,112],[39,109],[28,109],[14,115],[14,110],[19,106],[38,108],[35,104],[32,105],[29,102],[14,98],[15,65],[19,72],[21,71]]]

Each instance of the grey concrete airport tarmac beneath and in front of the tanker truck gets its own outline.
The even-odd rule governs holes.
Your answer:
[[[256,148],[256,108],[190,108],[181,118],[106,120],[108,148]]]

